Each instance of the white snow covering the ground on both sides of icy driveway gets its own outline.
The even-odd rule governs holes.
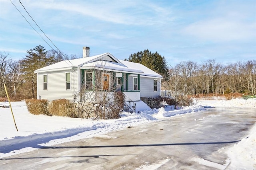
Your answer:
[[[251,107],[256,108],[256,100],[194,100],[195,105],[174,109],[167,106],[150,109],[143,102],[137,102],[139,113],[122,113],[120,119],[92,120],[46,115],[32,115],[28,112],[25,102],[12,102],[12,110],[18,131],[15,128],[10,108],[0,107],[0,158],[52,146],[60,143],[94,137],[109,131],[124,129],[152,121],[160,121],[170,116],[204,111],[208,107]],[[0,102],[8,105],[8,102]],[[247,169],[256,169],[256,124],[248,134],[231,147],[227,154],[232,162]]]

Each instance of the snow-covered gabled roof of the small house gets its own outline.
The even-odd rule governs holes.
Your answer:
[[[142,76],[152,76],[163,78],[160,74],[154,72],[148,67],[139,64],[132,63],[130,61],[118,60],[110,53],[104,53],[100,55],[95,55],[92,57],[86,57],[81,59],[65,60],[58,63],[40,68],[35,71],[39,72],[51,72],[67,70],[71,68],[102,68],[110,71],[126,72],[131,74],[140,74]]]

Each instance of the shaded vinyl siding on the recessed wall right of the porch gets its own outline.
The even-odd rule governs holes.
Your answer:
[[[157,91],[154,92],[154,79],[157,81]],[[161,79],[147,78],[140,76],[140,97],[158,97],[160,96]]]

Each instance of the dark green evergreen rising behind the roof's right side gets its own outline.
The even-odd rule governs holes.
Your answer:
[[[129,58],[125,60],[143,64],[144,66],[162,75],[164,80],[168,80],[170,78],[169,68],[167,66],[166,60],[157,52],[152,53],[148,49],[145,49],[144,51],[131,54]]]

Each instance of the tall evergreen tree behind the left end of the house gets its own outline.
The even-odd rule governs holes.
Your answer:
[[[30,88],[32,98],[36,97],[36,73],[35,70],[54,63],[53,57],[48,57],[46,49],[38,45],[27,51],[27,55],[20,61],[20,66],[25,77],[25,84]]]

